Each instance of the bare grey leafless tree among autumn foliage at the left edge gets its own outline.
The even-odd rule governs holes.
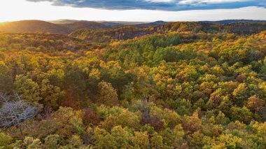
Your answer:
[[[18,94],[11,96],[0,93],[0,100],[3,103],[0,108],[1,129],[5,130],[8,127],[15,126],[20,129],[20,134],[23,135],[20,122],[34,118],[38,113],[38,108],[20,99]]]

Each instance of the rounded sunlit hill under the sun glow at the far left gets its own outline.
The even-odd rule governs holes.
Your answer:
[[[40,20],[23,20],[0,23],[0,31],[5,32],[50,32],[53,34],[69,34],[71,29],[59,24]]]

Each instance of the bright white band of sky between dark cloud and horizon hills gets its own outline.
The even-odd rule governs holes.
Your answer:
[[[146,0],[153,2],[171,2],[172,0]],[[181,0],[189,1],[211,0]],[[214,0],[243,1],[243,0]],[[213,2],[214,2],[213,1]],[[0,22],[14,20],[107,20],[107,21],[199,21],[199,20],[227,20],[252,19],[266,20],[266,8],[248,6],[244,8],[215,9],[215,10],[104,10],[96,8],[80,8],[71,6],[55,6],[51,1],[31,2],[26,0],[1,0]]]

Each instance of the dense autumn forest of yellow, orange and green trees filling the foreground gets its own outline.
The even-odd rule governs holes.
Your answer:
[[[265,102],[265,22],[0,33],[0,148],[264,149]]]

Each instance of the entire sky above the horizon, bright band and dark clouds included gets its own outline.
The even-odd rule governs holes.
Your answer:
[[[15,20],[266,20],[266,0],[1,0],[0,22]]]

